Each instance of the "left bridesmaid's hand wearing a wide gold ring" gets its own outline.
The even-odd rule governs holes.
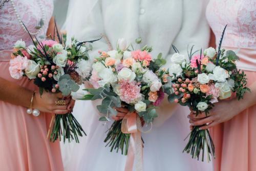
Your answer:
[[[59,99],[65,99],[66,105],[56,105],[55,102]],[[72,104],[73,101],[71,102],[71,97],[65,98],[61,93],[44,92],[40,96],[40,94],[36,92],[33,99],[32,108],[38,109],[41,112],[52,114],[66,114],[70,112]],[[68,109],[68,106],[70,109]]]

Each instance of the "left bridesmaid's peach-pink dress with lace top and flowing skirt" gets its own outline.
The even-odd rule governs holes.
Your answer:
[[[45,25],[36,34],[40,36],[46,35],[52,11],[51,0],[0,1],[0,77],[30,90],[37,89],[27,78],[15,80],[9,74],[10,53],[15,41],[23,39],[27,46],[32,44],[17,16],[32,33],[38,31],[35,26],[43,18]],[[34,117],[26,110],[23,106],[0,101],[0,170],[63,170],[59,142],[50,143],[46,139],[51,115],[41,113]]]

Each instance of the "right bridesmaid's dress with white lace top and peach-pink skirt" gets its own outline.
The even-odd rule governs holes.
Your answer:
[[[206,16],[217,46],[228,25],[222,48],[239,49],[237,65],[245,71],[249,86],[256,80],[256,1],[210,0]],[[216,147],[214,170],[256,170],[256,105],[215,126],[211,134]]]

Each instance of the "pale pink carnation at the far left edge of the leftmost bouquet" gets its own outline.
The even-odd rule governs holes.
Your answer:
[[[28,58],[18,55],[10,60],[9,72],[12,78],[20,79],[23,76],[23,70],[28,68]]]

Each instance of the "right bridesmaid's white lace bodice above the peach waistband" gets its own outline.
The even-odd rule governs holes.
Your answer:
[[[218,45],[227,26],[223,46],[256,49],[256,1],[211,0],[206,17]]]

